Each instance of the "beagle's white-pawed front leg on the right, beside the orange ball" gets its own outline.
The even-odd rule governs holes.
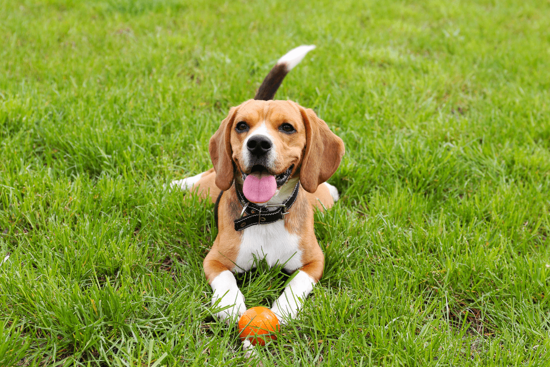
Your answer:
[[[271,310],[282,325],[286,324],[288,319],[296,317],[305,298],[321,277],[323,266],[324,261],[315,261],[303,266],[284,288],[283,294],[273,303]]]

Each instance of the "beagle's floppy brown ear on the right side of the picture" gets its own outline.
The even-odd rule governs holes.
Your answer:
[[[300,182],[309,193],[328,180],[342,161],[344,142],[318,118],[312,109],[300,107],[306,128],[306,151],[300,168]]]

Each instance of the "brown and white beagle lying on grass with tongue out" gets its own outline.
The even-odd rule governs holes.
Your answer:
[[[254,100],[230,109],[210,139],[213,168],[175,180],[216,202],[218,235],[204,260],[216,316],[234,322],[246,311],[234,273],[256,260],[295,273],[272,311],[284,324],[298,313],[323,274],[313,209],[330,208],[338,190],[326,183],[344,155],[342,139],[312,109],[272,100],[284,76],[315,46],[285,54]]]

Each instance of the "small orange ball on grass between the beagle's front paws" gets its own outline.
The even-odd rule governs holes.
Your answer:
[[[268,308],[257,306],[252,307],[239,319],[239,337],[241,340],[249,339],[253,346],[266,345],[266,339],[277,339],[273,334],[279,330],[279,319]]]

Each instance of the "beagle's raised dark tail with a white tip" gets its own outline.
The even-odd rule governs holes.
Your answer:
[[[263,79],[263,83],[256,92],[254,99],[262,101],[272,100],[277,89],[281,86],[284,77],[287,76],[288,72],[298,65],[304,56],[306,56],[306,53],[313,50],[313,48],[315,48],[313,45],[302,45],[285,53],[284,56],[277,61],[273,69],[271,69],[270,73],[267,74],[266,79]]]

